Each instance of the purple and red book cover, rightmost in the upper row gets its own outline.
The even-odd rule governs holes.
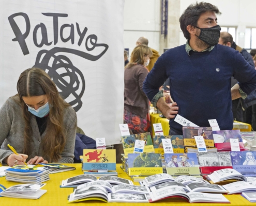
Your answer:
[[[237,139],[240,150],[245,149],[240,130],[213,131],[213,138],[218,151],[231,151],[230,139]]]

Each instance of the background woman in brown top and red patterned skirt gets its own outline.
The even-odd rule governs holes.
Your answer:
[[[128,124],[133,134],[147,132],[150,129],[148,113],[149,101],[142,90],[148,70],[151,49],[146,45],[136,46],[130,62],[125,67],[125,108],[124,121]]]

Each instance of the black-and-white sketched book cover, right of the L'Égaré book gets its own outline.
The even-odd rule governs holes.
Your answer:
[[[201,167],[232,166],[229,151],[199,152],[198,160]]]

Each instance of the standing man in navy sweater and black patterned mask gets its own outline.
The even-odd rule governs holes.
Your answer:
[[[200,127],[210,127],[208,119],[217,119],[221,130],[233,129],[231,100],[256,89],[254,68],[238,51],[218,44],[216,14],[221,14],[219,9],[206,2],[188,6],[179,18],[186,44],[163,53],[143,83],[148,99],[170,119],[169,135],[183,134],[177,114]],[[232,76],[239,82],[231,88]],[[159,91],[167,78],[171,106]]]

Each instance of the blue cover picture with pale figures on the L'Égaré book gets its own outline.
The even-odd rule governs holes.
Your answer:
[[[168,153],[164,161],[166,167],[199,167],[197,153]]]

